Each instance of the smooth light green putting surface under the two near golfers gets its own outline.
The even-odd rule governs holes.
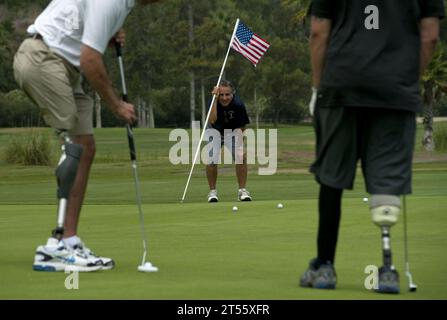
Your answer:
[[[380,264],[379,231],[361,199],[344,203],[337,254],[338,288],[303,289],[300,273],[315,252],[314,200],[233,202],[213,205],[145,205],[149,260],[157,273],[140,273],[142,243],[136,207],[88,205],[82,236],[117,263],[112,271],[81,273],[67,290],[64,273],[31,270],[33,251],[53,224],[54,206],[0,206],[1,299],[446,299],[447,222],[443,197],[411,198],[410,264],[416,293],[408,293],[402,225],[393,230],[394,259],[402,294],[366,290],[368,265]],[[427,219],[427,217],[429,217]]]

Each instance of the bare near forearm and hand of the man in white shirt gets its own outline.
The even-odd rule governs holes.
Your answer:
[[[81,48],[81,70],[93,89],[98,92],[117,117],[128,123],[136,120],[133,106],[119,99],[113,90],[101,53],[83,45]]]

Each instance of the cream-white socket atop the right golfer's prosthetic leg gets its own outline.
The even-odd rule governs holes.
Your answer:
[[[391,195],[372,195],[370,208],[373,222],[379,227],[391,227],[397,223],[400,198]]]

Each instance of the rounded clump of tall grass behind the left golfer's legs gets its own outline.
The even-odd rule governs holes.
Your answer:
[[[54,163],[55,145],[50,135],[40,131],[14,136],[4,151],[9,164],[50,166]]]

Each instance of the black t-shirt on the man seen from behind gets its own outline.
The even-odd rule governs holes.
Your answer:
[[[421,110],[419,25],[443,0],[313,0],[311,13],[332,20],[319,106]]]

